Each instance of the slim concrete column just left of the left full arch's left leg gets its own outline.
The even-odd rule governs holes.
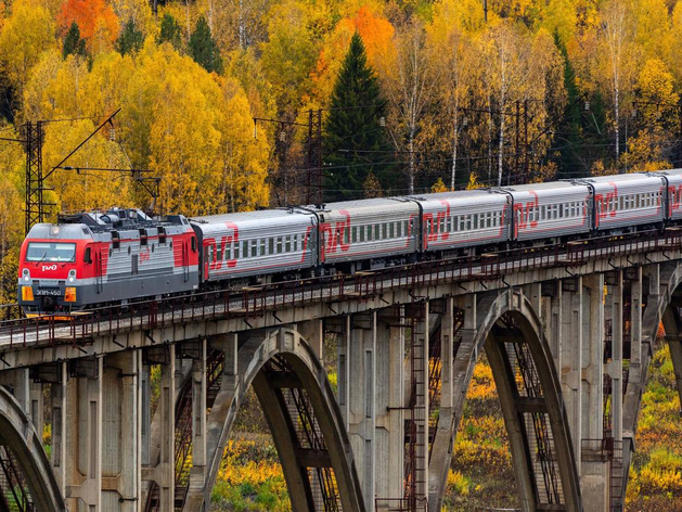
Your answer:
[[[206,479],[206,340],[192,361],[192,469],[190,484],[197,490]]]

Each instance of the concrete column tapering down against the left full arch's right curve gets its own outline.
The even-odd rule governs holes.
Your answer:
[[[374,511],[376,312],[356,315],[348,348],[348,434],[366,512]]]

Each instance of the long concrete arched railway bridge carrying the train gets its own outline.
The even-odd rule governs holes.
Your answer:
[[[208,510],[253,388],[293,510],[435,512],[484,353],[522,509],[622,510],[681,282],[672,228],[2,322],[0,510]]]

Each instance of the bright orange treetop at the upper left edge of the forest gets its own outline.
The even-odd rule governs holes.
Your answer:
[[[57,22],[64,33],[76,22],[80,36],[88,42],[102,25],[112,41],[118,36],[118,16],[105,0],[66,0]]]

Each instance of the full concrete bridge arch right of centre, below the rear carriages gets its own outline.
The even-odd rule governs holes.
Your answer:
[[[478,311],[478,313],[475,311]],[[538,372],[543,397],[541,407],[546,412],[554,439],[558,476],[563,489],[564,510],[581,511],[580,481],[561,383],[542,324],[531,303],[519,291],[507,290],[485,295],[471,310],[467,309],[466,315],[471,313],[474,313],[476,318],[475,321],[465,321],[462,330],[462,341],[453,368],[455,402],[452,414],[449,418],[451,423],[449,426],[441,426],[439,421],[432,450],[433,453],[443,455],[432,458],[430,461],[429,471],[433,477],[429,482],[429,510],[437,511],[442,505],[449,463],[452,457],[456,430],[463,413],[466,392],[469,387],[478,356],[484,349],[493,371],[505,425],[510,434],[512,460],[517,475],[522,508],[524,511],[537,510],[537,489],[535,488],[535,482],[531,482],[530,477],[532,475],[532,464],[525,432],[523,431],[523,407],[518,401],[516,384],[513,382],[514,375],[511,373],[512,370],[509,368],[509,360],[503,348],[506,340],[500,338],[499,333],[494,332],[498,322],[502,318],[507,317],[513,319],[520,330],[522,340],[517,342],[527,344]]]

